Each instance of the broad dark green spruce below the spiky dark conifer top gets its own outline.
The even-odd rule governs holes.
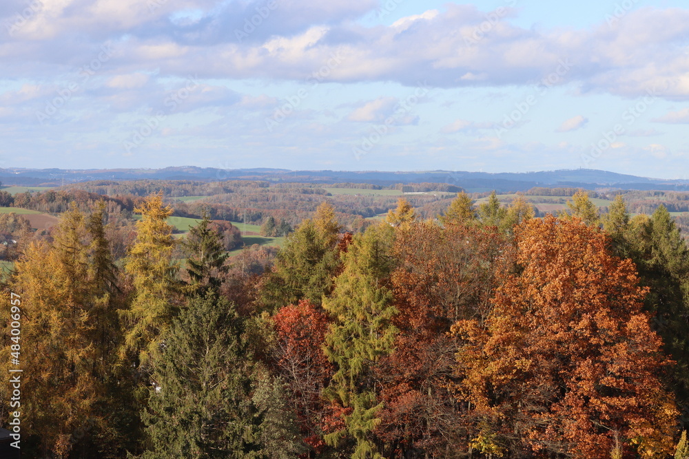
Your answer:
[[[257,458],[260,416],[251,401],[252,356],[232,303],[196,297],[163,332],[142,413],[143,458]]]

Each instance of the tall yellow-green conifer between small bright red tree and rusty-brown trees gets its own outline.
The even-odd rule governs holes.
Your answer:
[[[384,286],[389,277],[389,225],[371,226],[357,235],[344,256],[344,270],[333,295],[323,308],[335,321],[325,338],[325,352],[338,367],[327,399],[345,409],[345,427],[325,436],[332,446],[353,442],[352,458],[379,458],[371,432],[380,423],[382,404],[373,387],[373,365],[393,350],[397,329],[391,319],[392,292]]]

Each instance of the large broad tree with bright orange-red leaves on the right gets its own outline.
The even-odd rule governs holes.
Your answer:
[[[473,445],[598,458],[668,454],[674,399],[629,259],[578,218],[530,220],[517,232],[520,270],[505,276],[482,326],[459,321],[460,391],[471,401]]]

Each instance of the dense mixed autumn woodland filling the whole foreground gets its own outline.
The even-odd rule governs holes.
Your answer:
[[[689,458],[689,251],[663,205],[431,195],[351,233],[327,197],[230,258],[211,212],[176,239],[161,193],[80,193],[4,280],[25,457]]]

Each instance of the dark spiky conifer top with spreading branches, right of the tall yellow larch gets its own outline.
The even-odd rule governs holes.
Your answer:
[[[194,292],[205,292],[209,289],[218,291],[222,280],[220,275],[229,269],[225,261],[229,254],[225,251],[223,235],[210,226],[207,213],[198,225],[189,228],[185,246],[189,250],[187,274],[191,279]]]

